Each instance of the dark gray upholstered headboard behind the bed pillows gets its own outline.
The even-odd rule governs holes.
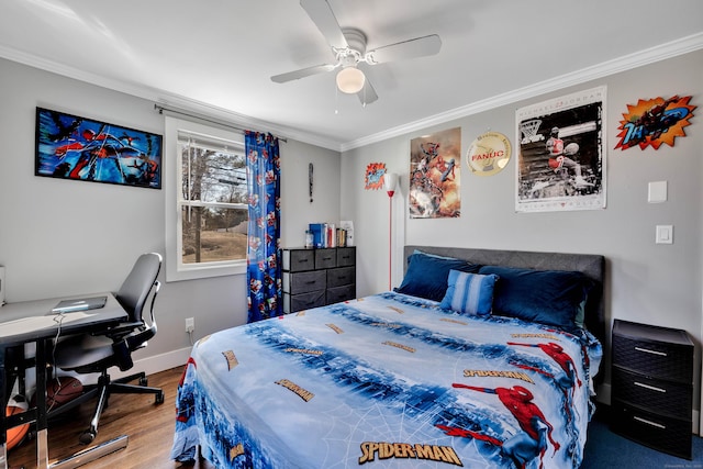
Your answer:
[[[456,257],[483,266],[516,267],[536,270],[578,270],[595,281],[585,305],[585,325],[601,343],[605,343],[605,308],[603,284],[605,257],[596,254],[537,253],[528,250],[472,249],[464,247],[405,246],[404,258],[415,249],[439,256]],[[404,268],[408,268],[405,260]]]

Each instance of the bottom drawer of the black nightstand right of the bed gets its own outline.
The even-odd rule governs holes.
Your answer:
[[[645,412],[613,400],[611,428],[650,448],[691,459],[691,422]]]

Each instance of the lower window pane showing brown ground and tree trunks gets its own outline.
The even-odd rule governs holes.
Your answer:
[[[182,264],[246,259],[246,209],[183,206]]]

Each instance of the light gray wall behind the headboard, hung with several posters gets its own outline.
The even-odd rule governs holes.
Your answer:
[[[515,152],[509,166],[493,177],[477,177],[462,164],[461,217],[410,220],[408,174],[410,141],[433,131],[461,127],[462,157],[473,138],[488,130],[507,135],[516,145],[515,110],[549,98],[607,86],[607,208],[600,211],[515,213]],[[467,80],[470,86],[470,79]],[[393,284],[402,279],[402,245],[425,244],[475,248],[506,248],[603,254],[607,258],[609,320],[623,319],[683,328],[696,344],[700,382],[703,235],[703,126],[695,115],[687,137],[659,150],[613,149],[626,104],[639,99],[692,94],[701,114],[703,52],[695,52],[639,69],[585,82],[532,100],[466,116],[432,129],[344,152],[342,217],[357,228],[358,294],[388,289],[389,202],[383,191],[364,190],[369,163],[386,163],[401,175],[401,193],[393,199]],[[515,149],[515,148],[513,148]],[[649,181],[666,180],[669,200],[647,202]],[[400,197],[399,197],[400,196]],[[655,226],[674,226],[673,245],[655,244]],[[610,359],[610,357],[607,357]],[[610,365],[606,361],[605,367]],[[606,369],[606,377],[610,373]],[[610,378],[607,378],[610,382]],[[700,409],[696,386],[695,407]],[[607,393],[609,389],[603,392]],[[610,400],[607,398],[606,400]]]

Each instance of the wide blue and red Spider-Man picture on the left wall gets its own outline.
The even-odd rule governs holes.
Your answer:
[[[161,136],[36,108],[35,175],[160,189]]]

